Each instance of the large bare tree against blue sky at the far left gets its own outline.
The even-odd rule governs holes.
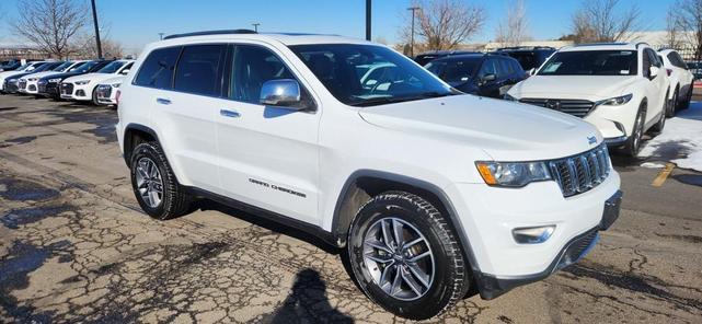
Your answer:
[[[15,34],[58,58],[70,51],[70,40],[87,23],[88,10],[76,0],[19,0]]]

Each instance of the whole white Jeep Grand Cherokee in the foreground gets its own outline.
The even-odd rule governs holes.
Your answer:
[[[373,66],[392,67],[360,82]],[[146,47],[117,135],[141,208],[196,198],[345,247],[364,292],[427,319],[580,257],[618,217],[600,132],[545,108],[453,91],[389,47],[229,31]]]

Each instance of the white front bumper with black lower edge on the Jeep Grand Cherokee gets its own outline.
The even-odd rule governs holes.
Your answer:
[[[522,188],[485,184],[446,187],[460,220],[459,235],[469,250],[473,275],[483,281],[477,284],[481,296],[494,298],[557,270],[564,251],[573,242],[584,233],[602,229],[605,201],[617,196],[619,187],[620,177],[613,170],[598,186],[569,197],[564,197],[553,181]],[[519,244],[513,236],[514,229],[548,225],[555,230],[543,243]]]

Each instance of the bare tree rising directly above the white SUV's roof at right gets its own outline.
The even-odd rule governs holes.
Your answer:
[[[576,43],[618,42],[640,26],[641,11],[632,4],[619,10],[620,0],[583,0],[573,14],[572,33]]]

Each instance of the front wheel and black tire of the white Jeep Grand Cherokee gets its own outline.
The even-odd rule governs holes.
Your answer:
[[[385,254],[383,257],[391,261],[390,265],[395,267],[394,271],[392,271],[393,268],[388,271],[388,276],[394,278],[392,274],[401,271],[399,270],[400,267],[410,276],[411,264],[416,266],[419,262],[427,261],[425,257],[419,262],[413,263],[410,258],[418,254],[425,254],[426,251],[431,253],[430,268],[433,269],[433,279],[425,280],[429,281],[427,285],[418,286],[423,289],[423,294],[421,296],[416,293],[416,290],[407,289],[410,292],[415,291],[416,297],[414,300],[402,300],[385,292],[377,284],[378,279],[373,278],[371,271],[376,271],[376,274],[378,271],[384,273],[388,266],[385,263],[378,263],[375,266],[371,265],[373,268],[370,269],[365,258],[368,255],[367,246],[370,246],[364,243],[367,234],[372,236],[372,229],[376,228],[376,224],[380,222],[380,227],[382,227],[381,220],[390,218],[400,219],[405,225],[411,225],[408,228],[419,232],[425,241],[411,245],[410,247],[412,248],[403,248],[404,251],[401,253]],[[401,232],[403,236],[410,235],[410,230]],[[411,238],[405,239],[410,240]],[[394,242],[394,239],[392,241]],[[392,244],[389,243],[388,245]],[[410,193],[383,193],[364,205],[356,215],[349,230],[347,248],[354,276],[366,296],[398,316],[412,320],[433,317],[462,299],[470,288],[469,265],[463,257],[461,245],[447,218],[426,199]],[[381,250],[378,251],[380,253]],[[423,264],[423,266],[426,269],[429,268],[426,264]],[[382,270],[380,267],[382,267]],[[376,276],[378,277],[378,275]],[[404,288],[411,288],[408,280],[405,280],[404,277],[400,278]],[[416,278],[416,276],[413,278]],[[382,275],[380,275],[380,280],[382,280]],[[419,281],[416,280],[414,282],[418,285]],[[399,288],[403,287],[399,286]],[[390,289],[393,291],[392,288]]]

